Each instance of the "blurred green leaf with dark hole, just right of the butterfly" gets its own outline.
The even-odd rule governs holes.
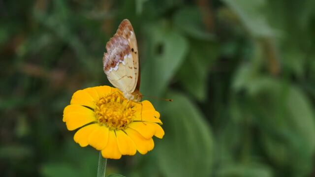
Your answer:
[[[185,59],[188,43],[178,32],[159,26],[149,26],[149,53],[141,70],[141,91],[146,95],[160,95]]]

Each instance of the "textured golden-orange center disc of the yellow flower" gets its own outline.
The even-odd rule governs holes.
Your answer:
[[[121,94],[113,93],[96,101],[95,115],[99,124],[112,130],[125,129],[135,118],[134,103]]]

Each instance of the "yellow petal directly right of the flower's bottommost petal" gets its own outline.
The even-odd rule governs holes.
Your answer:
[[[116,131],[117,143],[120,152],[123,155],[134,155],[137,152],[137,148],[133,141],[122,130]]]

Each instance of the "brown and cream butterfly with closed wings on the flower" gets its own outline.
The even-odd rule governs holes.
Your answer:
[[[135,33],[129,20],[119,25],[116,33],[106,43],[103,69],[109,82],[120,89],[128,100],[139,102],[140,63]]]

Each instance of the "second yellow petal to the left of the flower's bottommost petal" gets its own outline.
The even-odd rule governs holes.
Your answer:
[[[88,139],[90,134],[99,127],[98,123],[90,124],[82,127],[74,134],[74,141],[78,143],[81,147],[88,146]]]

